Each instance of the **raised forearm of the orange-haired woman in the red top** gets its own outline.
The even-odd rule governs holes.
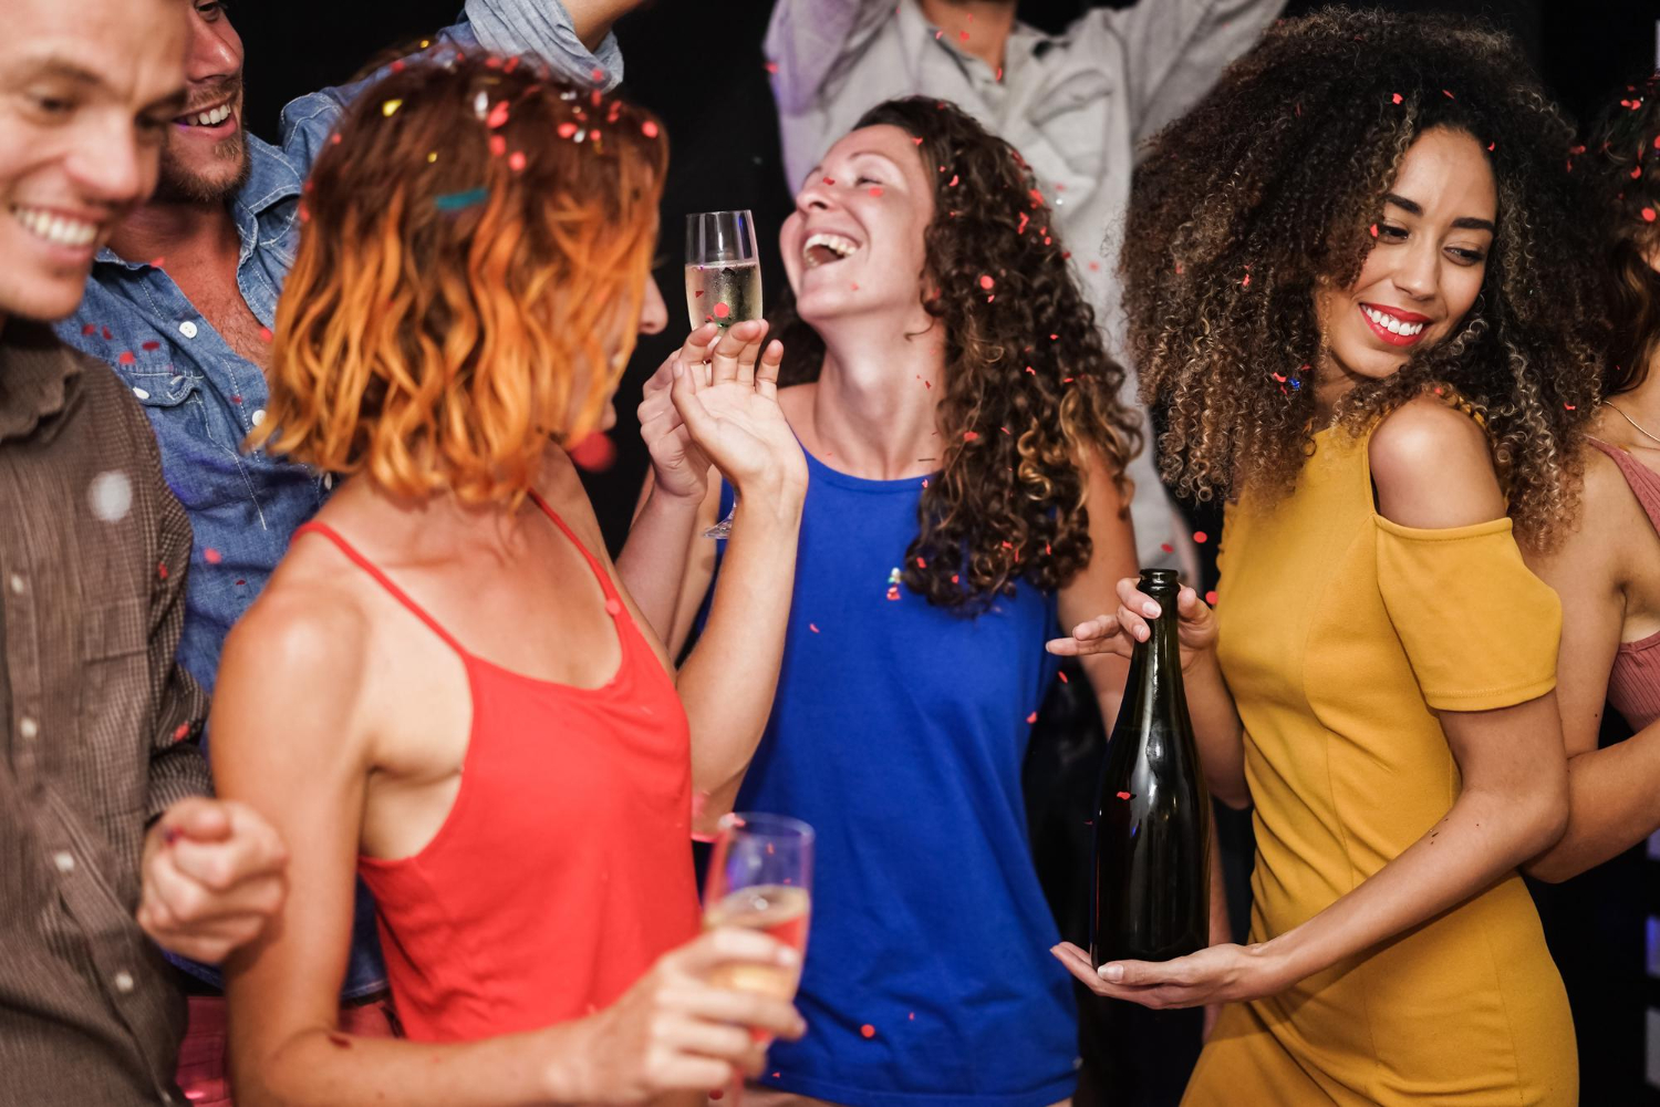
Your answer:
[[[692,727],[692,787],[730,808],[772,714],[784,661],[802,493],[742,493],[709,622],[679,675]]]

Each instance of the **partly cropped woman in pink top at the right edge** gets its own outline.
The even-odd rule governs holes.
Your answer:
[[[1549,881],[1660,830],[1660,73],[1622,93],[1585,149],[1574,168],[1592,176],[1594,212],[1607,219],[1614,342],[1585,446],[1584,521],[1531,558],[1562,596],[1572,815],[1529,866]],[[1597,749],[1604,702],[1637,734]]]

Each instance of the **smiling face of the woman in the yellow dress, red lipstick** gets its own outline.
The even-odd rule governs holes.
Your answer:
[[[1408,148],[1360,279],[1315,292],[1323,388],[1389,377],[1457,329],[1481,294],[1497,206],[1486,151],[1467,133],[1436,128]]]

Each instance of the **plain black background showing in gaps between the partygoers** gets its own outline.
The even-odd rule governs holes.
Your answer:
[[[1162,0],[1142,0],[1160,3]],[[1021,17],[1059,32],[1087,0],[1024,0]],[[1109,3],[1106,7],[1125,7]],[[1288,15],[1315,3],[1293,0]],[[1589,121],[1622,81],[1655,65],[1660,0],[1391,0],[1394,10],[1486,15],[1527,48],[1545,85],[1567,111]],[[350,78],[367,60],[450,23],[460,0],[287,0],[249,3],[232,18],[247,46],[247,121],[276,138],[281,106],[297,95]],[[715,10],[719,8],[719,15]],[[779,156],[777,116],[760,40],[772,0],[649,0],[618,27],[627,95],[667,126],[674,158],[664,196],[657,279],[671,305],[669,332],[644,339],[618,395],[618,460],[589,473],[606,536],[616,549],[646,473],[632,410],[641,382],[684,337],[679,319],[682,221],[686,212],[749,207],[762,237],[769,302],[782,274],[767,234],[790,211]],[[1213,528],[1220,529],[1220,528]],[[1087,831],[1104,737],[1082,680],[1057,685],[1033,739],[1028,797],[1034,851],[1062,931],[1087,943]],[[1625,732],[1610,724],[1604,740]],[[1250,827],[1223,817],[1235,923],[1245,924]],[[1536,888],[1552,951],[1562,968],[1579,1032],[1582,1102],[1587,1107],[1660,1107],[1643,1080],[1643,1011],[1660,1007],[1660,988],[1645,973],[1645,916],[1660,914],[1655,863],[1642,850],[1557,888]],[[1152,1016],[1139,1007],[1084,999],[1087,1057],[1079,1107],[1175,1104],[1195,1054],[1192,1012]],[[1101,1089],[1107,1089],[1102,1092]],[[1258,1105],[1250,1105],[1258,1107]]]

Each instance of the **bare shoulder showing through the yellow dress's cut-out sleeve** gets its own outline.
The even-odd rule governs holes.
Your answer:
[[[1436,397],[1389,412],[1366,451],[1378,513],[1393,523],[1441,529],[1504,516],[1487,433]]]

